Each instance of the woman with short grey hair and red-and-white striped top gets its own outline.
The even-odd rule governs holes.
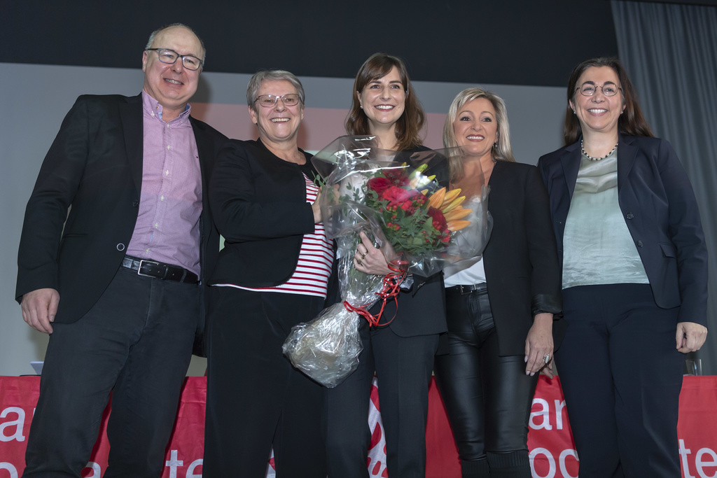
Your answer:
[[[292,368],[282,343],[323,309],[333,246],[326,240],[310,155],[297,146],[304,90],[290,72],[247,87],[259,139],[229,140],[209,187],[224,236],[209,282],[209,368],[203,475],[325,477],[323,388]]]

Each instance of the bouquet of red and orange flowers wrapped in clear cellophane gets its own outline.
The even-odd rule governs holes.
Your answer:
[[[372,325],[383,325],[367,312],[374,302],[396,295],[407,273],[429,277],[483,252],[492,221],[488,188],[480,163],[473,159],[459,148],[381,150],[371,136],[342,136],[314,156],[324,181],[323,225],[337,245],[341,301],[292,328],[283,350],[295,367],[323,386],[337,386],[359,365],[360,315]],[[469,161],[471,168],[464,168]],[[463,172],[467,169],[468,175]],[[465,188],[446,187],[452,171],[460,171],[457,176],[469,186],[468,196]],[[361,231],[396,274],[371,275],[354,267]]]

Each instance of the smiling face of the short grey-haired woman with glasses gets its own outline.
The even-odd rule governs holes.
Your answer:
[[[261,95],[282,96],[290,93],[297,94],[296,87],[287,80],[263,81],[257,97]],[[272,107],[263,107],[259,102],[249,105],[249,115],[252,123],[259,128],[259,138],[264,143],[296,143],[296,135],[301,120],[304,119],[304,105],[286,106],[282,100],[277,100]]]

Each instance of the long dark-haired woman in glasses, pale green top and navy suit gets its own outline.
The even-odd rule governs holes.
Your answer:
[[[617,59],[578,64],[567,100],[566,146],[538,168],[562,264],[558,360],[580,477],[679,477],[683,353],[707,335],[695,194]]]

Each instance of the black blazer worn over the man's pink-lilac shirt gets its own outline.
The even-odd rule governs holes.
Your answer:
[[[219,234],[206,191],[226,137],[194,118],[191,125],[204,191],[204,282],[219,254]],[[142,164],[142,96],[78,97],[44,158],[27,203],[18,254],[18,302],[27,292],[49,287],[60,292],[56,322],[75,322],[90,310],[120,267],[132,237]]]

